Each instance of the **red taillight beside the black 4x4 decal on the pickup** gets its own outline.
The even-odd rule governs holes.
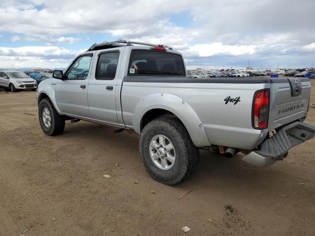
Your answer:
[[[265,129],[268,127],[270,90],[256,91],[252,102],[252,127]]]

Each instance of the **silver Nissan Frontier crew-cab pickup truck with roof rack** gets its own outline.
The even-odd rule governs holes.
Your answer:
[[[94,44],[53,77],[37,94],[47,135],[61,134],[65,120],[133,129],[146,170],[168,185],[189,177],[201,148],[269,166],[315,136],[303,122],[308,78],[186,78],[181,53],[166,45]]]

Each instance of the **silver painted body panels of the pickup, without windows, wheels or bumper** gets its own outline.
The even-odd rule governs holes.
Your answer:
[[[141,76],[143,82],[126,82],[132,49],[150,50],[145,46],[126,46],[91,51],[93,58],[86,80],[45,80],[39,85],[37,97],[46,94],[60,115],[134,129],[139,134],[143,116],[152,109],[164,109],[183,122],[196,147],[218,145],[251,150],[264,141],[270,130],[307,115],[309,81],[302,82],[302,93],[296,97],[290,96],[290,85],[285,81],[259,84],[148,83],[151,77]],[[95,80],[97,57],[103,51],[120,52],[114,80]],[[81,85],[86,85],[86,89],[81,89]],[[107,86],[113,90],[106,90]],[[253,96],[259,89],[270,89],[271,94],[269,125],[264,130],[252,128]],[[228,96],[240,97],[240,101],[235,105],[225,104],[224,99]],[[290,109],[299,104],[304,106]],[[281,113],[281,109],[288,111]]]

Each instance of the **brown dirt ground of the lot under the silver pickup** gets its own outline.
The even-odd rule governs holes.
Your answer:
[[[201,151],[196,173],[166,186],[136,135],[84,121],[44,135],[35,97],[0,92],[0,236],[315,235],[315,139],[269,168]]]

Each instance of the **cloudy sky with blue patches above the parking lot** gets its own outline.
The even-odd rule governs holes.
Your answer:
[[[170,44],[191,66],[310,67],[315,0],[0,1],[0,68],[65,67],[118,38]]]

